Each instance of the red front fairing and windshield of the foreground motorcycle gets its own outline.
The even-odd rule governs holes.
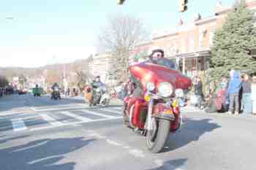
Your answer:
[[[156,61],[146,61],[129,66],[129,71],[143,85],[146,90],[148,82],[154,82],[157,86],[160,82],[170,82],[174,88],[187,90],[192,82],[189,77],[177,70],[176,63],[167,59],[159,58]]]

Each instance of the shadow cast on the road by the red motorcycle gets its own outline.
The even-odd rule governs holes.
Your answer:
[[[211,123],[211,119],[188,119],[187,123],[182,127],[181,132],[170,134],[169,140],[166,144],[167,148],[165,148],[163,152],[184,147],[190,142],[199,140],[200,136],[203,136],[203,134],[214,131],[217,128],[221,128],[221,126],[217,123]]]

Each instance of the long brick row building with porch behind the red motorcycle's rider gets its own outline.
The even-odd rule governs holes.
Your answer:
[[[256,0],[247,0],[249,9],[256,9]],[[173,31],[154,35],[151,42],[135,47],[130,55],[131,61],[144,59],[151,47],[160,47],[165,50],[165,57],[173,58],[184,74],[193,77],[200,71],[206,71],[211,57],[211,44],[214,31],[225,22],[231,7],[225,7],[221,2],[217,4],[214,15],[201,18],[195,16],[191,23],[180,20]]]

